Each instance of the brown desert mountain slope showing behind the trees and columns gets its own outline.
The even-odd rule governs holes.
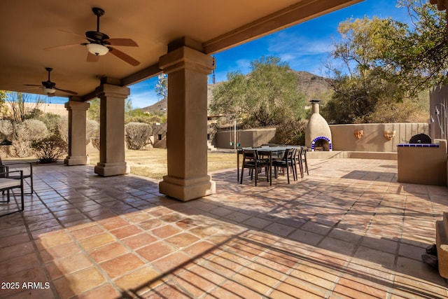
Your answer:
[[[305,99],[329,99],[332,89],[328,84],[328,79],[311,74],[307,71],[295,71],[297,73],[297,88],[305,95]],[[207,93],[207,102],[211,102],[211,92],[220,83],[209,84]],[[167,112],[167,99],[161,99],[159,102],[141,109],[149,113]]]

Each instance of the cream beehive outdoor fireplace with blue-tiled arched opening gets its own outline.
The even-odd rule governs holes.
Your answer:
[[[311,102],[312,114],[305,130],[305,146],[311,151],[332,151],[331,131],[325,118],[319,113],[319,99]]]

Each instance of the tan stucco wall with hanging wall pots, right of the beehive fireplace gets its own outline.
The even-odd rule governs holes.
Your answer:
[[[352,125],[330,125],[333,151],[396,152],[397,144],[406,144],[416,134],[429,135],[428,123],[363,123]],[[355,131],[363,130],[360,139]],[[390,141],[384,131],[395,131]]]

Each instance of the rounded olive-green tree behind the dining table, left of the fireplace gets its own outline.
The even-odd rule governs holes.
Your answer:
[[[228,74],[216,86],[210,109],[241,119],[246,127],[279,125],[304,116],[304,97],[297,90],[297,74],[278,57],[251,62],[251,73]]]

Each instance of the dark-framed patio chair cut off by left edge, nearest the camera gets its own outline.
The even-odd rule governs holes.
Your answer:
[[[1,200],[0,200],[0,208],[5,207],[6,213],[0,214],[1,216],[6,216],[9,214],[13,214],[17,211],[23,211],[24,209],[24,193],[23,193],[23,172],[22,170],[15,170],[13,172],[9,172],[6,170],[7,168],[2,166],[0,167],[0,191],[1,191]],[[20,177],[20,179],[10,179],[10,176]],[[20,189],[20,207],[19,209],[10,208],[11,200],[10,193],[13,189]],[[6,200],[5,200],[6,193]],[[15,203],[13,203],[15,204]],[[2,209],[0,209],[2,210]]]

